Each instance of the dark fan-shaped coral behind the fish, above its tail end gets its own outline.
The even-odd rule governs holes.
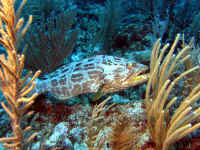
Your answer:
[[[76,8],[66,10],[59,15],[52,14],[48,22],[40,21],[28,30],[24,41],[27,49],[25,68],[38,69],[50,73],[63,63],[72,52],[78,39],[78,30],[73,29]]]

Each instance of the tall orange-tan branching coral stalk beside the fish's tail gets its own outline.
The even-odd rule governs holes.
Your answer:
[[[19,38],[25,34],[32,21],[30,16],[28,22],[24,25],[24,19],[19,18],[25,2],[25,0],[21,2],[15,14],[14,0],[0,0],[0,44],[6,49],[7,53],[7,55],[0,55],[0,87],[7,100],[7,104],[1,102],[1,105],[11,119],[13,130],[13,137],[1,138],[0,142],[4,143],[5,148],[12,150],[24,149],[26,143],[37,135],[37,133],[33,133],[26,137],[31,126],[22,128],[23,119],[30,114],[28,109],[38,95],[34,93],[28,97],[27,94],[35,87],[33,81],[40,74],[40,71],[36,72],[30,81],[27,81],[27,79],[32,75],[31,72],[23,78],[24,55],[18,54],[16,50]]]

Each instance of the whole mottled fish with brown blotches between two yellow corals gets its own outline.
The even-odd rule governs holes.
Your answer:
[[[103,93],[127,89],[147,81],[147,66],[124,58],[97,55],[64,65],[37,80],[35,92],[50,92],[61,100],[83,93]]]

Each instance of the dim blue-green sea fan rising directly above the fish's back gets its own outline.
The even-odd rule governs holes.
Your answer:
[[[124,13],[122,2],[123,0],[107,0],[105,11],[103,11],[104,13],[99,18],[102,27],[94,37],[94,41],[108,54],[111,54],[110,49],[113,44],[113,38],[115,38],[122,22],[122,15]]]

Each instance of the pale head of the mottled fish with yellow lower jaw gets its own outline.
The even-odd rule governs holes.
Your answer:
[[[118,66],[112,67],[112,73],[106,76],[103,91],[112,93],[142,84],[148,80],[148,66],[123,59]]]

